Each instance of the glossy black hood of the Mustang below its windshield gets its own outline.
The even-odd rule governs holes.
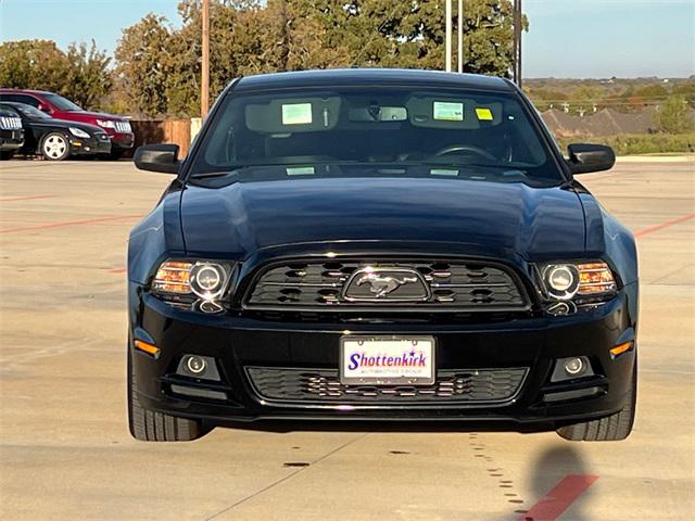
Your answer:
[[[298,243],[374,243],[476,255],[549,258],[584,250],[580,200],[567,188],[460,179],[333,178],[187,186],[181,226],[190,254]],[[450,244],[444,246],[443,243]]]

